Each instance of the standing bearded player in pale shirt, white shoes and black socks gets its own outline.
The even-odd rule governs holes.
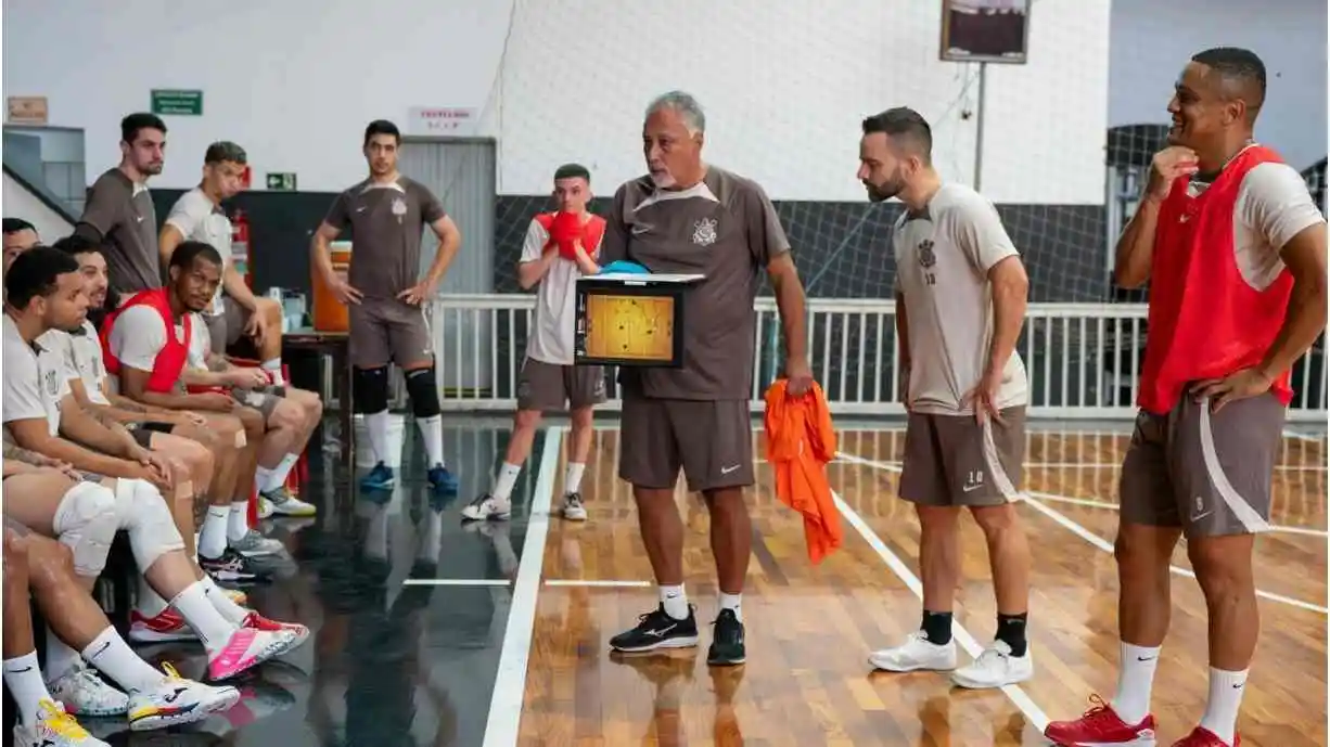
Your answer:
[[[923,621],[895,649],[868,657],[888,671],[952,671],[962,687],[1029,679],[1025,625],[1029,546],[1016,516],[1025,451],[1025,267],[992,203],[932,167],[932,132],[900,106],[863,121],[859,179],[874,202],[896,197],[896,335],[906,385],[900,497],[919,516]],[[959,582],[960,512],[984,533],[998,597],[998,634],[956,669],[951,638]]]

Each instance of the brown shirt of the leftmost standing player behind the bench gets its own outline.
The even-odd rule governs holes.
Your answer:
[[[162,286],[153,195],[120,169],[93,182],[74,233],[106,245],[106,271],[114,291],[125,295]]]

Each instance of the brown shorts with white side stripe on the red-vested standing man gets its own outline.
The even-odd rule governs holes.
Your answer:
[[[1271,393],[1220,412],[1185,395],[1168,415],[1141,411],[1119,480],[1123,521],[1188,537],[1269,529],[1283,411]]]

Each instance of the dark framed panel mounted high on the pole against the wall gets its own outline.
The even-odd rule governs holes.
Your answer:
[[[1029,0],[942,0],[942,58],[1023,65]]]

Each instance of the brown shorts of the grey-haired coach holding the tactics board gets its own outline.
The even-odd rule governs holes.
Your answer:
[[[689,490],[751,485],[753,421],[747,400],[665,400],[624,395],[618,476],[637,488]]]

